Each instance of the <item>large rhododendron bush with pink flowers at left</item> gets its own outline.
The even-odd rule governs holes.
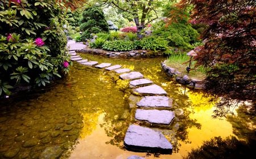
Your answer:
[[[63,11],[50,0],[0,1],[0,95],[68,72]]]

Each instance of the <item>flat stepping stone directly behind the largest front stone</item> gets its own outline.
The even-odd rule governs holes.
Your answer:
[[[147,121],[154,124],[169,125],[175,118],[175,113],[170,110],[144,110],[137,109],[135,119],[139,121]]]

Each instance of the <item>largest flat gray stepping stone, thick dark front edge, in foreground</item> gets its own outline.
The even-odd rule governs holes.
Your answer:
[[[164,137],[162,132],[135,124],[129,126],[124,145],[127,149],[133,151],[172,153],[172,144]]]

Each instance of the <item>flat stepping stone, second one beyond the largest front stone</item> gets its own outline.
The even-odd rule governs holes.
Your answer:
[[[146,96],[137,102],[137,106],[141,107],[172,107],[172,99],[165,96]]]

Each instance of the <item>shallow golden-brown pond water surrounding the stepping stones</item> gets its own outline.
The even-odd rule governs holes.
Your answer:
[[[179,130],[163,130],[167,139],[174,140],[173,153],[126,151],[123,137],[134,122],[134,111],[127,100],[129,92],[123,91],[109,72],[74,62],[67,79],[14,101],[1,102],[0,158],[44,158],[42,152],[46,148],[55,150],[55,156],[60,158],[127,158],[133,154],[182,158],[204,140],[233,135],[232,124],[226,119],[211,117],[214,104],[208,101],[209,95],[185,89],[164,74],[160,67],[163,58],[109,59],[81,55],[139,71],[167,91],[174,108],[184,110],[184,117],[175,124]]]

